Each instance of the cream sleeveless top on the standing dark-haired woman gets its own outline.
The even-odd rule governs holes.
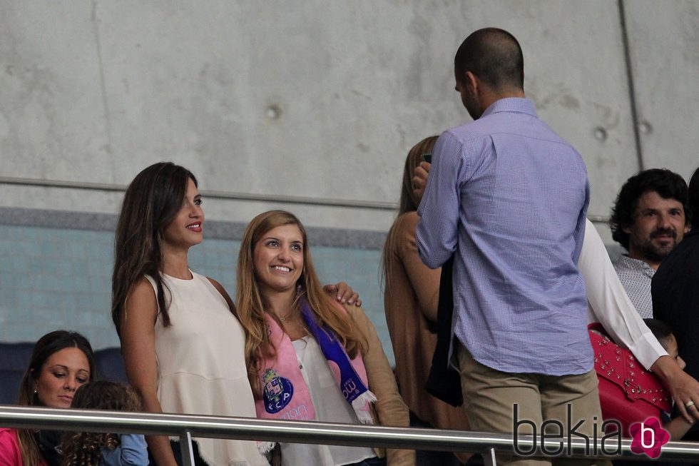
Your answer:
[[[256,417],[245,368],[243,328],[208,278],[192,275],[192,280],[161,275],[171,325],[163,327],[158,315],[155,355],[160,406],[163,412],[178,414]],[[155,289],[153,279],[146,278]],[[269,464],[249,440],[199,437],[196,441],[200,455],[211,466]]]

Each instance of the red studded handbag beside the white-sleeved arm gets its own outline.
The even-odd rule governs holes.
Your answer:
[[[631,437],[632,424],[645,422],[649,417],[660,420],[660,412],[672,410],[668,390],[638,363],[631,351],[614,343],[600,323],[588,325],[588,332],[595,353],[604,420],[618,420],[623,437]]]

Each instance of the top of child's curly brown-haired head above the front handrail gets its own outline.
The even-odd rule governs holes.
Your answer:
[[[96,380],[78,388],[71,407],[93,410],[140,411],[141,400],[131,388],[125,387],[121,383]]]

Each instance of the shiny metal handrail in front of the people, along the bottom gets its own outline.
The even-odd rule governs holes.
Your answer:
[[[414,429],[372,425],[335,424],[330,422],[300,422],[262,420],[250,417],[154,414],[150,412],[114,412],[101,410],[65,410],[46,407],[0,405],[0,425],[24,429],[52,429],[85,432],[137,433],[168,435],[190,439],[212,437],[272,442],[319,443],[330,445],[444,450],[465,452],[504,452],[513,454],[511,434],[466,432],[459,430]],[[602,435],[602,434],[601,434]],[[599,438],[595,442],[571,439],[571,457],[633,457],[647,460],[646,455],[631,452],[631,440],[621,441],[621,455],[601,454]],[[541,448],[541,441],[531,435],[517,437],[521,449]],[[182,442],[189,448],[188,442]],[[186,445],[185,445],[186,444]],[[544,440],[551,451],[561,439]],[[616,445],[616,444],[615,444]],[[597,450],[592,450],[595,447]],[[541,451],[541,450],[539,450]],[[598,452],[594,454],[593,452]],[[699,443],[669,442],[663,445],[663,460],[696,462]],[[568,454],[567,440],[563,454]],[[190,455],[185,455],[185,459]]]

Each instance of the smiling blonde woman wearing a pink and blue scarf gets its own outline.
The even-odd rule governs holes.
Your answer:
[[[291,213],[252,219],[238,254],[238,317],[257,417],[408,425],[408,410],[361,308],[322,293],[305,228]],[[262,445],[272,450],[274,445]],[[414,465],[412,450],[282,442],[282,465]],[[277,455],[272,455],[273,464]]]

